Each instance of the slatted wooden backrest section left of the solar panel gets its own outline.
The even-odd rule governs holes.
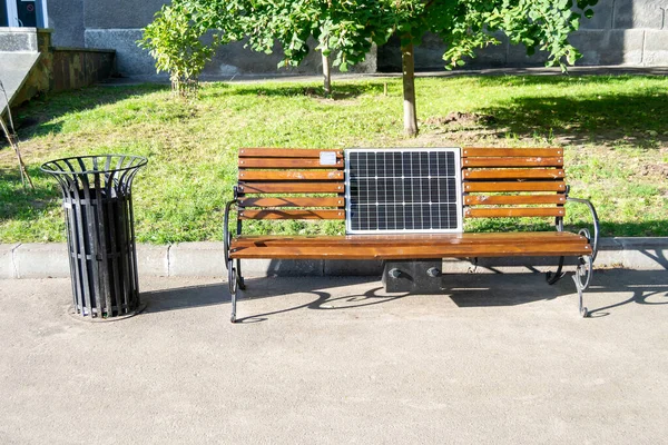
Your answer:
[[[239,219],[345,219],[343,150],[242,148],[238,162]]]

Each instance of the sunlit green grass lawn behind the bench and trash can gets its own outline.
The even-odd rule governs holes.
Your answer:
[[[668,79],[450,77],[419,79],[416,88],[415,139],[403,136],[400,79],[335,82],[334,99],[320,97],[313,82],[263,82],[207,83],[194,102],[158,85],[35,100],[14,116],[37,190],[22,188],[13,151],[2,146],[0,243],[63,240],[60,192],[39,166],[107,152],[149,158],[134,187],[139,241],[219,240],[239,147],[560,146],[571,195],[593,201],[605,236],[668,236]],[[573,206],[567,222],[586,221],[586,210]],[[500,224],[478,220],[466,229]],[[343,227],[286,222],[279,230]]]

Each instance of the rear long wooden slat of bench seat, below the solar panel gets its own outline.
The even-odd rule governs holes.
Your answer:
[[[478,234],[411,234],[411,235],[347,235],[347,236],[276,236],[256,235],[234,238],[233,247],[277,246],[449,246],[479,244],[586,244],[587,238],[568,231],[478,233]]]

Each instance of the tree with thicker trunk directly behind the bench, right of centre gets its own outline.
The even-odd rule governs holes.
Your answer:
[[[464,65],[475,50],[498,44],[502,31],[512,43],[523,43],[528,55],[537,49],[548,53],[548,65],[566,66],[581,55],[568,42],[582,16],[591,18],[598,0],[416,0],[411,13],[395,27],[401,36],[404,86],[404,130],[418,135],[414,89],[414,53],[425,32],[440,36],[448,48],[446,68]]]

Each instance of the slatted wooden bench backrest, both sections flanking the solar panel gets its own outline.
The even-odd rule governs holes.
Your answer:
[[[321,154],[335,164],[323,166]],[[238,218],[345,219],[343,150],[242,148]],[[462,148],[464,217],[564,216],[560,148]]]

